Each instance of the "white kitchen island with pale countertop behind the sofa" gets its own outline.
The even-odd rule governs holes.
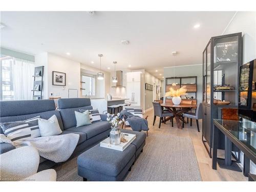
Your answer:
[[[125,100],[129,100],[127,98],[112,98],[111,100],[105,99],[105,98],[91,98],[91,104],[93,106],[93,109],[98,109],[99,113],[105,113],[108,111],[108,106],[114,105],[114,104],[123,104],[125,103]]]

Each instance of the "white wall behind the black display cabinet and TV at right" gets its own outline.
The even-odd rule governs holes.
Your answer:
[[[223,34],[242,32],[243,64],[256,58],[256,12],[237,12]],[[241,155],[243,162],[243,154]],[[250,173],[256,174],[256,165],[251,162]]]

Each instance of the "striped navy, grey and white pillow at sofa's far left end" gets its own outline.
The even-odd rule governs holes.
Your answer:
[[[5,136],[12,142],[40,137],[38,119],[40,116],[25,121],[1,123]]]

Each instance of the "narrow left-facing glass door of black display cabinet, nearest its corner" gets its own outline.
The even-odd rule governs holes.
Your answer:
[[[206,56],[206,103],[210,104],[210,95],[211,95],[211,65],[210,65],[210,59],[211,59],[211,42],[207,46],[207,56]]]

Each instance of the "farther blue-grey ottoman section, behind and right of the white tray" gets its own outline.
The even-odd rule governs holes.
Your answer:
[[[121,133],[136,135],[136,139],[131,144],[135,145],[136,147],[135,159],[137,159],[140,155],[140,152],[143,152],[143,147],[146,144],[146,134],[144,132],[135,132],[132,130],[121,130]]]

